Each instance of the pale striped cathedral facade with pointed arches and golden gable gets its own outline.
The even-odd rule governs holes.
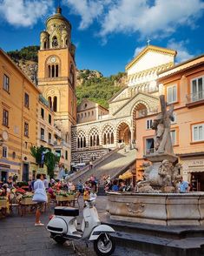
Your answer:
[[[136,147],[137,120],[158,111],[162,88],[156,79],[174,65],[175,55],[176,51],[148,45],[126,66],[127,82],[109,100],[109,111],[100,114],[94,103],[82,101],[77,111],[80,124],[72,127],[73,165],[100,158],[121,145]],[[88,119],[93,111],[95,118]]]

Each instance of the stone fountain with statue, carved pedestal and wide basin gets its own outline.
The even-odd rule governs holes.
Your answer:
[[[174,106],[160,96],[161,113],[155,118],[155,152],[146,158],[144,178],[138,192],[108,192],[110,219],[162,226],[204,225],[204,193],[179,193],[181,164],[170,137]]]

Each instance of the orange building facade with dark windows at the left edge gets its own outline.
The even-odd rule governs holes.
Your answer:
[[[14,174],[18,180],[28,180],[35,163],[30,146],[37,140],[40,91],[2,50],[0,81],[0,180]]]

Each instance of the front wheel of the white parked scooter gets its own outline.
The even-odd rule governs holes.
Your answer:
[[[94,241],[95,253],[100,256],[109,256],[115,251],[115,239],[109,234],[102,233],[98,239]]]

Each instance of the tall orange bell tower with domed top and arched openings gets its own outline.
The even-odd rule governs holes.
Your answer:
[[[56,125],[71,141],[71,125],[76,125],[76,47],[71,43],[71,24],[62,8],[46,21],[38,51],[38,87],[56,114]]]

